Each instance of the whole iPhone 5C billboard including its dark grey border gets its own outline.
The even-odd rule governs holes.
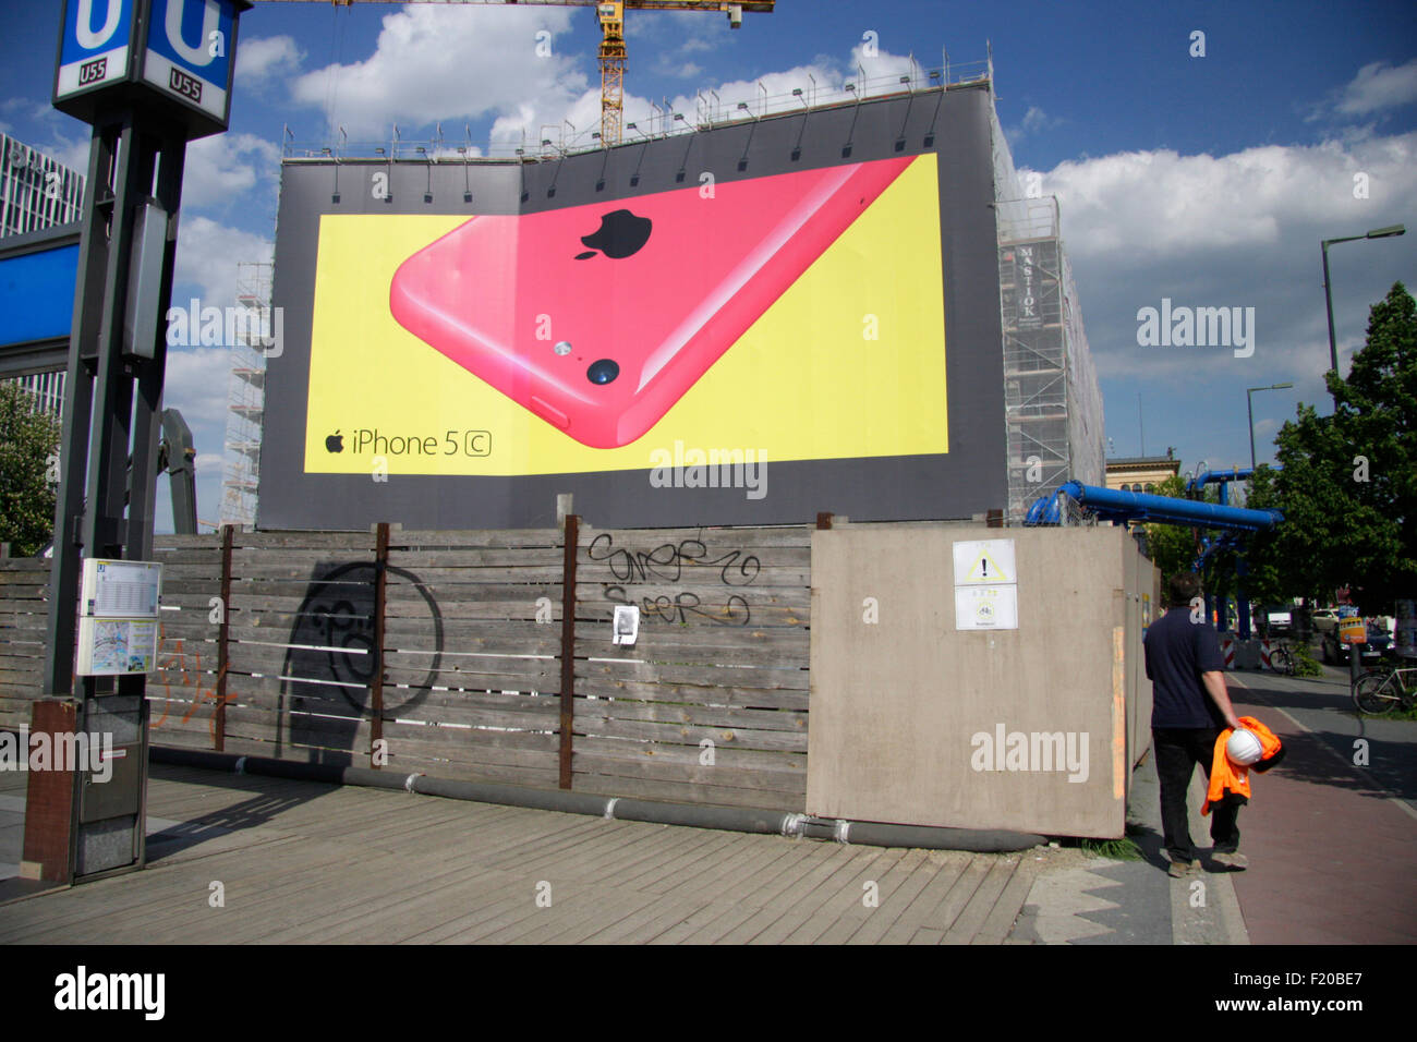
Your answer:
[[[540,526],[563,492],[598,526],[1003,506],[989,105],[921,92],[534,163],[288,162],[261,526]],[[655,214],[638,257],[594,234],[616,210]],[[449,322],[459,285],[479,308]],[[503,333],[531,362],[495,357]],[[612,414],[585,404],[597,356]]]

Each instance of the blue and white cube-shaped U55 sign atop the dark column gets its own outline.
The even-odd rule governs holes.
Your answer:
[[[88,123],[157,103],[188,138],[227,129],[237,20],[249,0],[65,0],[54,106]]]

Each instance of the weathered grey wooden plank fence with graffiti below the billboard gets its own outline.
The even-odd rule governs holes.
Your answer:
[[[811,530],[567,532],[160,536],[152,740],[802,809]],[[0,727],[40,695],[47,583],[0,561]]]

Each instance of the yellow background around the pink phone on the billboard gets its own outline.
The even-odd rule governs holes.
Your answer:
[[[380,445],[388,474],[404,475],[646,469],[676,442],[768,462],[948,451],[934,155],[918,156],[655,427],[614,449],[561,434],[394,320],[398,265],[463,221],[322,218],[307,474],[370,474],[376,445],[357,448],[361,430],[404,439],[401,454]],[[326,451],[336,431],[339,454]],[[490,434],[489,455],[466,454],[468,431]],[[432,454],[411,447],[425,438],[438,442]]]

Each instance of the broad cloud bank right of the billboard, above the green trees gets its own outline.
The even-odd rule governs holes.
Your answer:
[[[1355,173],[1369,198],[1355,198]],[[1100,377],[1165,381],[1168,394],[1214,379],[1292,380],[1325,397],[1328,369],[1319,242],[1397,224],[1417,197],[1417,133],[1263,146],[1226,156],[1135,152],[1067,162],[1043,174],[1056,194]],[[1410,238],[1410,237],[1408,237]],[[1335,323],[1340,357],[1362,342],[1366,309],[1411,284],[1407,238],[1339,247]],[[1141,308],[1254,308],[1255,352],[1141,347]],[[1241,394],[1243,397],[1243,394]],[[1243,403],[1241,403],[1243,404]]]

